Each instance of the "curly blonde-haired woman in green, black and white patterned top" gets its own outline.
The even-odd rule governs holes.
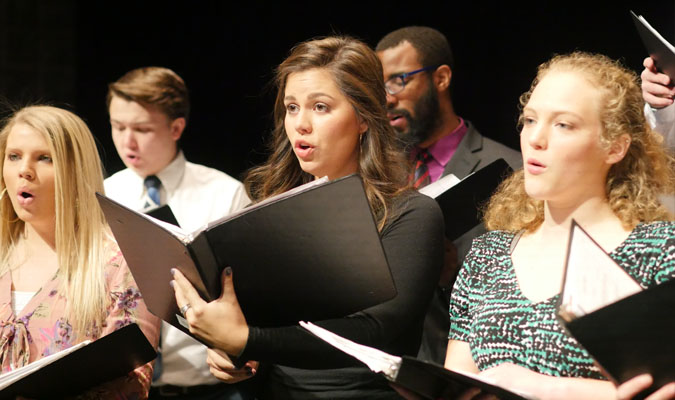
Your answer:
[[[617,391],[555,319],[575,219],[642,287],[675,277],[675,223],[658,197],[675,160],[643,114],[635,73],[573,53],[540,66],[521,97],[524,169],[491,199],[459,274],[446,367],[542,399]]]

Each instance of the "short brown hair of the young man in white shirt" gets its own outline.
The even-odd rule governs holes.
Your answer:
[[[168,68],[143,67],[108,85],[107,105],[113,96],[157,107],[171,120],[190,114],[190,98],[183,78]]]

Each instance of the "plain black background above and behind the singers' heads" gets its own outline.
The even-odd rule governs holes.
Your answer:
[[[517,148],[518,96],[553,54],[599,52],[642,70],[646,52],[631,9],[675,43],[675,0],[0,0],[0,99],[75,111],[113,173],[123,166],[110,139],[107,84],[133,68],[165,66],[190,89],[192,113],[182,139],[188,159],[241,178],[264,159],[274,97],[268,83],[294,44],[337,33],[375,46],[398,27],[428,25],[446,34],[455,54],[458,113]]]

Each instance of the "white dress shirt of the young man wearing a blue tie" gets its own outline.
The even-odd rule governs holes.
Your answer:
[[[250,202],[241,182],[216,169],[188,162],[183,152],[157,177],[162,182],[162,204],[171,207],[181,228],[188,232]],[[129,208],[143,211],[148,200],[143,180],[144,177],[133,170],[124,169],[105,180],[106,195]],[[219,382],[206,364],[206,347],[166,322],[162,322],[161,349],[162,375],[153,386]]]

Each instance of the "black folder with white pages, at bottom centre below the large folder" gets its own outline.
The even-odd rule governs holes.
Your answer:
[[[330,345],[363,362],[373,372],[425,399],[456,399],[465,391],[477,387],[500,399],[534,399],[526,393],[515,393],[489,380],[466,372],[451,371],[443,366],[413,357],[397,357],[373,347],[363,346],[308,322],[300,325]]]

